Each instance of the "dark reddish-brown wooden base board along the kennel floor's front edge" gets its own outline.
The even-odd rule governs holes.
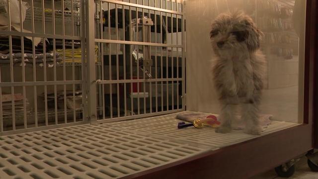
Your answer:
[[[312,129],[303,124],[125,179],[248,179],[313,149]]]

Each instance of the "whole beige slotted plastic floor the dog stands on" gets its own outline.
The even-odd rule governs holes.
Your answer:
[[[175,115],[0,137],[0,179],[121,178],[256,137],[176,129]],[[273,122],[262,135],[296,125]]]

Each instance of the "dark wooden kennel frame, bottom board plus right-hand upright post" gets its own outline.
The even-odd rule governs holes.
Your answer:
[[[317,39],[317,8],[318,0],[307,0],[303,124],[124,179],[247,179],[318,148],[318,43],[312,40]]]

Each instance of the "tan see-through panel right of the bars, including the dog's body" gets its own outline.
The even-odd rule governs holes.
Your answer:
[[[306,0],[186,3],[187,110],[302,123]]]

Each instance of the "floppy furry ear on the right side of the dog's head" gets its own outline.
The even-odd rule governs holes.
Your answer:
[[[263,33],[256,27],[256,25],[251,20],[244,20],[244,23],[246,25],[246,30],[248,32],[247,38],[246,38],[246,44],[247,48],[251,52],[255,52],[257,49],[259,49],[260,46],[260,40],[263,36]]]

